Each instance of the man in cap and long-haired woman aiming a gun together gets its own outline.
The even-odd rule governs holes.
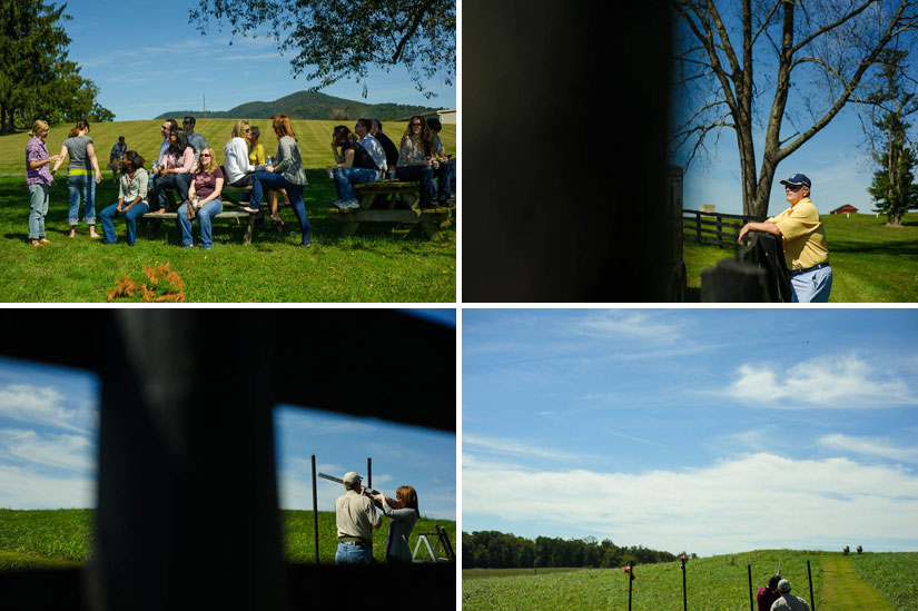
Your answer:
[[[412,486],[404,485],[395,492],[395,499],[389,499],[365,489],[363,477],[354,471],[345,473],[342,481],[345,493],[335,501],[335,524],[338,532],[335,564],[373,562],[373,529],[378,529],[383,523],[379,512],[392,518],[386,536],[386,562],[411,562],[408,539],[421,518],[417,492]]]

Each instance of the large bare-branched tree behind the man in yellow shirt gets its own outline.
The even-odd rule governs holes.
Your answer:
[[[687,151],[688,164],[705,138],[732,129],[743,214],[759,217],[768,213],[778,164],[852,101],[879,53],[900,38],[914,40],[918,26],[916,0],[674,3],[674,147]],[[757,131],[764,132],[761,166]]]

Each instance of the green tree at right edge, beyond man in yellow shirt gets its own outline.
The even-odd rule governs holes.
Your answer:
[[[872,125],[880,146],[873,158],[880,169],[873,173],[873,181],[867,189],[876,204],[876,211],[886,213],[891,226],[902,225],[902,214],[918,208],[918,185],[915,167],[918,165],[915,148],[908,137],[908,117],[918,112],[918,96],[904,78],[907,53],[887,50],[881,56],[882,87],[865,100],[873,108]]]

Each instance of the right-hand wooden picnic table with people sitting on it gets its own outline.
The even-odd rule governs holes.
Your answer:
[[[354,185],[359,208],[329,208],[332,218],[344,223],[342,235],[353,236],[362,223],[414,223],[432,242],[442,242],[441,228],[452,225],[453,208],[421,208],[418,183],[377,180]]]

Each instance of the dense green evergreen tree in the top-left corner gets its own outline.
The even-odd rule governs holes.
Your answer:
[[[67,3],[0,0],[0,124],[2,131],[80,118],[111,120],[96,101],[98,88],[67,59]]]

